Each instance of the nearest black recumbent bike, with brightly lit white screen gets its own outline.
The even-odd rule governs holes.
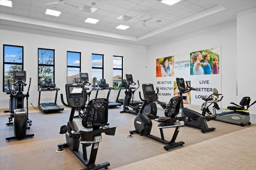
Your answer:
[[[98,170],[110,166],[109,162],[95,164],[99,142],[102,141],[101,133],[114,135],[116,127],[108,125],[108,100],[93,99],[88,103],[88,109],[82,119],[84,128],[78,129],[73,121],[76,108],[85,105],[84,85],[82,83],[66,84],[66,97],[68,105],[72,108],[67,125],[60,128],[60,134],[66,134],[66,143],[58,144],[58,148],[68,147],[86,166],[84,170]],[[79,150],[82,144],[83,153]],[[90,157],[87,158],[86,147],[91,146]]]

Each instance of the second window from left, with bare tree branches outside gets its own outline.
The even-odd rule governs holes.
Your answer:
[[[52,78],[54,83],[54,49],[38,48],[38,89],[44,78]]]

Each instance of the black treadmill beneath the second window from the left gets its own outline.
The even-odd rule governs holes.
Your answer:
[[[45,78],[44,81],[40,84],[39,89],[39,99],[38,99],[38,108],[44,113],[50,112],[59,112],[63,111],[64,108],[57,105],[57,95],[60,89],[56,87],[54,83],[52,83],[52,78]],[[55,93],[55,101],[54,103],[40,103],[41,91],[56,91]]]

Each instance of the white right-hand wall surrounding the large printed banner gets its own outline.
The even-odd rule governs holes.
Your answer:
[[[255,21],[255,18],[254,20],[251,20],[251,21]],[[251,27],[251,25],[249,27]],[[254,23],[254,28],[255,28],[255,23]],[[251,32],[249,34],[252,34],[253,28],[250,28],[250,30]],[[254,33],[253,33],[254,35],[255,35],[255,30],[256,29],[254,29]],[[240,60],[241,57],[237,57],[237,53],[238,53],[237,52],[237,35],[238,34],[239,33],[237,32],[237,22],[236,20],[234,20],[232,22],[221,24],[212,28],[200,30],[192,34],[180,36],[172,40],[150,45],[147,47],[148,65],[150,65],[150,68],[155,68],[156,67],[155,60],[156,58],[160,58],[160,57],[167,57],[172,55],[190,53],[191,51],[199,51],[203,49],[221,47],[220,93],[222,93],[224,96],[224,98],[222,99],[222,107],[225,108],[228,105],[230,105],[230,102],[239,103],[240,100],[242,99],[241,96],[246,95],[245,93],[240,96],[236,94],[236,88],[237,88],[236,81],[238,77],[237,65],[238,64],[240,65],[241,63],[241,60]],[[256,40],[255,37],[254,39],[250,38],[248,43],[251,43],[252,41],[255,42],[255,40]],[[256,46],[254,43],[254,48],[251,48],[251,49],[255,49],[255,47]],[[248,50],[248,52],[252,52],[252,51]],[[253,54],[251,53],[250,56],[253,57]],[[245,59],[243,61],[251,62],[252,58],[249,60]],[[255,56],[254,56],[254,61],[255,61]],[[252,62],[252,63],[254,64],[255,62]],[[256,80],[253,78],[255,76],[252,75],[252,73],[254,74],[256,73],[255,68],[247,67],[246,64],[244,63],[240,65],[239,70],[240,69],[244,70],[242,75],[239,74],[241,76],[244,76],[243,74],[245,73],[250,73],[248,77],[250,77],[250,82],[252,83],[248,87],[252,88],[253,84],[256,83]],[[150,73],[150,75],[154,75],[155,77],[155,74],[156,74],[155,69],[149,69],[148,73]],[[238,79],[238,81],[239,81],[238,84],[239,83],[244,84],[244,78]],[[154,83],[154,85],[156,85],[156,78],[154,78],[152,82]],[[254,87],[254,92],[252,93],[252,91],[250,91],[250,93],[247,95],[249,95],[252,99],[256,100],[255,87]],[[250,113],[256,114],[253,111],[253,109],[252,109],[252,112]]]

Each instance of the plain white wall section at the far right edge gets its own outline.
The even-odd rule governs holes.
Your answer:
[[[256,8],[237,15],[237,91],[238,99],[251,97],[256,100]],[[256,114],[256,104],[250,107]]]

